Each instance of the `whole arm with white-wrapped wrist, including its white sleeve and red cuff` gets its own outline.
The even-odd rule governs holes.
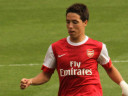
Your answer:
[[[120,72],[112,64],[105,44],[102,45],[102,50],[97,61],[103,66],[109,77],[121,86],[123,96],[128,96],[128,84],[123,80]]]

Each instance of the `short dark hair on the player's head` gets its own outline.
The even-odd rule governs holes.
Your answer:
[[[84,22],[86,20],[89,20],[89,11],[86,5],[82,3],[75,3],[66,10],[66,16],[68,13],[76,13],[80,15],[80,19]]]

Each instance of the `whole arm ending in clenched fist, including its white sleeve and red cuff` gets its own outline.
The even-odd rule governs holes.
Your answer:
[[[23,78],[21,80],[20,88],[25,89],[29,85],[40,85],[48,82],[55,70],[56,67],[55,62],[56,60],[53,54],[52,46],[50,45],[45,55],[43,66],[41,68],[43,71],[34,78],[31,79]]]

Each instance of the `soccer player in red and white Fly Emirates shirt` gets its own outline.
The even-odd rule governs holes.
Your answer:
[[[31,79],[21,80],[21,89],[49,81],[56,69],[59,75],[58,96],[103,96],[98,64],[128,96],[128,84],[114,67],[106,45],[85,35],[89,12],[84,4],[73,4],[66,10],[69,36],[50,45],[42,72]]]

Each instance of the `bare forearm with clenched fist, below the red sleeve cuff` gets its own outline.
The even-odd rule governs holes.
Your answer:
[[[52,74],[50,74],[50,73],[46,73],[46,72],[42,71],[41,73],[39,73],[34,78],[31,78],[31,79],[23,78],[21,80],[20,88],[21,89],[25,89],[30,85],[41,85],[41,84],[44,84],[44,83],[46,83],[46,82],[48,82],[50,80],[51,75]]]

